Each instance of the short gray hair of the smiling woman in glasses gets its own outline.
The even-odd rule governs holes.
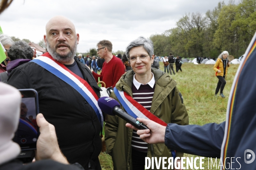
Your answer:
[[[138,46],[143,46],[143,48],[148,52],[150,56],[154,55],[153,42],[150,39],[146,39],[145,37],[140,36],[136,40],[133,40],[132,42],[130,42],[126,47],[125,54],[128,59],[130,58],[129,52],[131,48],[138,47]]]

